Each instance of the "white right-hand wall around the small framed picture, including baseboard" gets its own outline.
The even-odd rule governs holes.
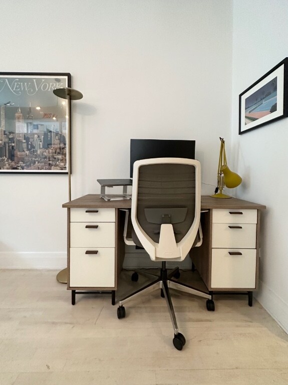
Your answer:
[[[234,0],[232,143],[239,198],[266,205],[258,299],[288,330],[287,118],[238,135],[238,95],[287,55],[286,0]],[[287,90],[286,90],[287,92]]]

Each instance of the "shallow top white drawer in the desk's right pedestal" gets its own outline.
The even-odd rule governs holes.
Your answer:
[[[257,210],[213,209],[213,223],[257,223]]]

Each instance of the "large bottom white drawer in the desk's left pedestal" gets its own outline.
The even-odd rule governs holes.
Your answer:
[[[86,254],[98,251],[97,254]],[[71,287],[114,287],[115,249],[114,248],[71,248],[70,249]]]

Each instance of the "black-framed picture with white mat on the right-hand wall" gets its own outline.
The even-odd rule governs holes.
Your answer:
[[[239,135],[288,116],[288,58],[239,95]]]

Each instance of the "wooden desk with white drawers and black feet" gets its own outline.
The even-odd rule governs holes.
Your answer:
[[[104,201],[88,194],[62,205],[68,216],[68,282],[75,304],[77,290],[111,292],[115,304],[125,256],[124,212],[131,201]],[[203,244],[190,252],[207,290],[246,292],[252,305],[257,290],[260,211],[265,206],[236,198],[201,197]],[[90,291],[88,292],[90,293]]]

